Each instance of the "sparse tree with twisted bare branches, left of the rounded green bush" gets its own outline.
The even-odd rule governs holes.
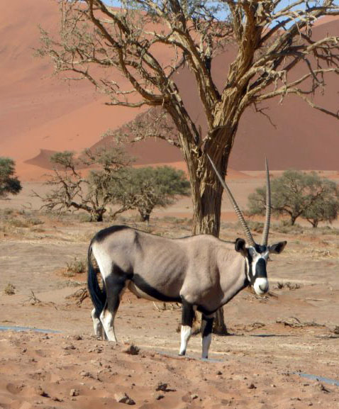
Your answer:
[[[46,184],[54,189],[45,196],[33,192],[43,201],[42,208],[48,211],[87,211],[91,221],[100,222],[112,201],[111,185],[119,177],[119,170],[127,167],[131,159],[118,147],[103,147],[91,151],[85,150],[79,158],[74,152],[57,152],[50,158],[55,164],[54,174]],[[79,169],[87,167],[99,168],[89,170],[87,177]],[[116,213],[126,209],[120,208]]]

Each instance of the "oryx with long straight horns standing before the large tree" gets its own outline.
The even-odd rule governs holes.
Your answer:
[[[123,225],[99,231],[88,252],[88,286],[95,307],[92,318],[96,335],[102,333],[116,342],[114,316],[123,291],[129,288],[136,296],[152,301],[182,303],[180,355],[186,353],[194,310],[201,311],[202,357],[207,358],[216,310],[246,286],[251,285],[258,295],[267,293],[269,253],[281,253],[287,244],[267,245],[270,219],[267,162],[266,220],[260,245],[253,240],[243,213],[213,163],[212,166],[243,226],[248,246],[241,238],[232,244],[212,235],[170,239]],[[103,279],[102,290],[91,262],[92,254]]]

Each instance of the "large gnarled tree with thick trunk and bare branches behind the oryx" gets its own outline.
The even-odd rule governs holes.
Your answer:
[[[117,3],[116,1],[114,2]],[[238,124],[246,108],[289,94],[313,108],[313,92],[338,74],[338,37],[312,37],[321,16],[335,16],[333,0],[134,0],[113,8],[108,1],[60,0],[60,37],[42,31],[40,52],[57,72],[88,79],[112,106],[161,107],[177,135],[164,136],[182,150],[189,169],[194,234],[218,235],[222,187],[205,152],[225,176]],[[211,64],[226,44],[236,54],[217,88]],[[163,52],[159,52],[163,50]],[[167,55],[167,59],[161,55]],[[194,73],[206,120],[202,134],[189,115],[174,72]],[[296,65],[304,74],[288,75]],[[123,79],[123,80],[122,80]]]

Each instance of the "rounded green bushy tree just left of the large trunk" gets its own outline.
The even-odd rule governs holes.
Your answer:
[[[113,203],[137,209],[143,221],[150,220],[155,207],[169,206],[177,196],[189,195],[184,172],[173,167],[122,169],[120,173],[121,178],[113,181]]]

